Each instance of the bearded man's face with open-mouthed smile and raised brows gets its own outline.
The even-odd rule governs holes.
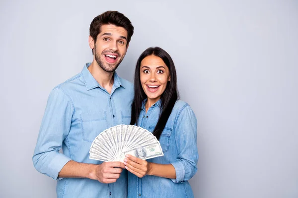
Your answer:
[[[113,72],[123,60],[128,45],[127,31],[115,25],[102,25],[97,35],[96,43],[89,40],[90,47],[94,47],[94,57],[97,64],[106,72]]]

